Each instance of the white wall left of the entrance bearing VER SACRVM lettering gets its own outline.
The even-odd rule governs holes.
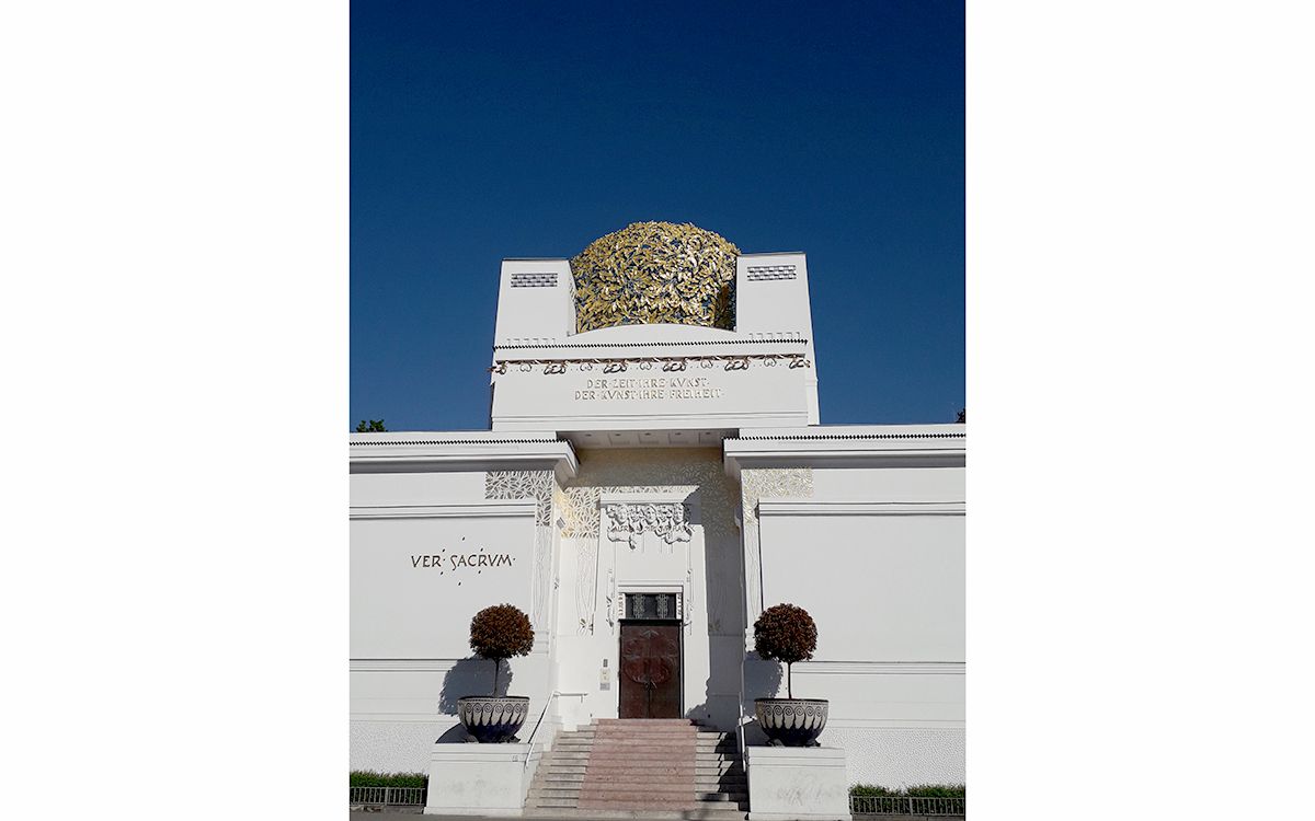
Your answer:
[[[501,603],[533,611],[535,500],[484,495],[477,470],[351,476],[352,768],[425,771],[434,741],[462,734],[456,699],[493,684],[493,663],[472,658],[471,617]],[[540,628],[534,652],[502,666],[500,692],[530,696],[535,717],[550,653]]]

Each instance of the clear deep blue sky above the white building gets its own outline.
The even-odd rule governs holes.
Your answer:
[[[351,420],[488,427],[498,264],[803,251],[823,424],[964,406],[963,3],[351,4]]]

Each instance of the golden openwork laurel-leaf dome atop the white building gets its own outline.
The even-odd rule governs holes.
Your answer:
[[[571,260],[576,332],[661,322],[731,330],[739,254],[688,222],[635,222],[600,236]]]

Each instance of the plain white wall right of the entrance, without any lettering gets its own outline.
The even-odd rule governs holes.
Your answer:
[[[794,695],[831,703],[822,741],[847,750],[851,783],[965,779],[964,469],[911,464],[811,468],[750,531],[763,603],[817,621]],[[784,670],[747,662],[746,690],[784,696]]]

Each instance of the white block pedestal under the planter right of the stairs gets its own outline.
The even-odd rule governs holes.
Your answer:
[[[744,747],[750,821],[851,821],[839,747]]]

